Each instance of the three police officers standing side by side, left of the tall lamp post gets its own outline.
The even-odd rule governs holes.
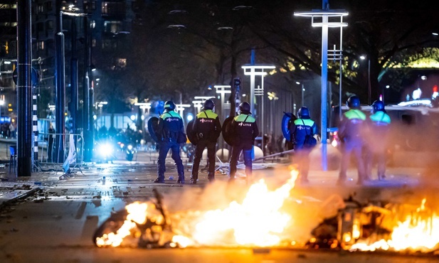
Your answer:
[[[196,135],[196,149],[194,154],[194,163],[192,165],[191,181],[196,183],[199,177],[199,165],[204,149],[207,148],[208,157],[208,181],[215,181],[215,157],[216,141],[221,134],[221,122],[218,114],[213,112],[215,104],[212,100],[206,100],[199,114],[196,114],[194,122],[191,124],[191,131]],[[156,135],[159,140],[159,160],[158,176],[154,183],[164,183],[164,172],[166,171],[165,159],[169,149],[171,157],[177,166],[179,178],[177,183],[184,183],[184,166],[180,158],[180,146],[186,143],[186,134],[181,116],[175,112],[176,105],[174,102],[167,101],[164,103],[164,112],[159,117],[157,123]],[[236,166],[240,152],[243,152],[245,173],[248,179],[252,175],[252,147],[256,136],[259,134],[258,125],[255,118],[250,116],[250,104],[242,102],[239,105],[239,114],[233,117],[228,129],[228,135],[233,138],[229,181],[235,179]],[[190,125],[190,124],[189,124]]]

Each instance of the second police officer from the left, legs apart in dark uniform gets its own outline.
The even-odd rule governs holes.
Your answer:
[[[218,114],[213,112],[215,104],[212,100],[206,100],[203,104],[203,109],[199,114],[196,114],[192,130],[196,134],[196,149],[194,155],[194,162],[192,163],[191,183],[196,183],[198,179],[199,166],[203,151],[207,148],[208,159],[208,181],[215,181],[215,150],[216,140],[221,134],[221,122]]]

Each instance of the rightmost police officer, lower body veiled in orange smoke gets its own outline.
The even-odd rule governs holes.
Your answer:
[[[374,101],[372,114],[367,118],[368,134],[366,136],[366,176],[371,177],[374,157],[376,158],[378,179],[386,178],[386,150],[390,133],[391,118],[384,109],[384,102]]]

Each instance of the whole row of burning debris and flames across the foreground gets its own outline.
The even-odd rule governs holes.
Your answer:
[[[164,210],[162,196],[154,189],[155,201],[132,203],[113,213],[95,232],[98,247],[300,247],[349,251],[432,252],[439,244],[439,217],[426,206],[375,202],[362,204],[354,198],[328,198],[324,218],[308,242],[300,241],[297,230],[316,218],[304,208],[288,209],[297,171],[282,186],[270,190],[263,179],[253,183],[241,201],[223,208]],[[290,201],[290,203],[288,203]],[[322,208],[322,207],[321,207]],[[302,209],[302,210],[300,210]],[[329,212],[331,211],[331,212]],[[301,218],[302,216],[302,218]],[[302,219],[302,220],[300,220]],[[309,233],[309,232],[307,232]],[[301,243],[302,242],[302,243]],[[302,245],[301,245],[302,244]]]

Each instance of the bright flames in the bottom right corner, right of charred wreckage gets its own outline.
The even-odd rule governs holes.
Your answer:
[[[390,240],[379,240],[371,245],[354,244],[350,250],[375,251],[376,249],[401,251],[411,249],[430,252],[439,244],[439,217],[425,208],[425,198],[415,212],[407,215],[393,228]]]

